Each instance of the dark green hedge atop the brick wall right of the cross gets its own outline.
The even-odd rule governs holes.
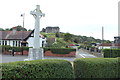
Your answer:
[[[76,51],[73,48],[44,48],[45,51],[51,51],[53,54],[69,54],[72,51]]]

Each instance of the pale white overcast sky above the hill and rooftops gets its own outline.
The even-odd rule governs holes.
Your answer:
[[[114,40],[118,36],[118,2],[120,0],[1,0],[0,27],[23,25],[34,29],[35,19],[30,14],[40,5],[45,17],[40,19],[40,30],[47,26],[59,26],[60,32],[69,32],[102,39]]]

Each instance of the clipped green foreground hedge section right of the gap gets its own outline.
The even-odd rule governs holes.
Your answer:
[[[118,78],[118,67],[118,58],[81,58],[74,61],[75,76],[83,79]]]

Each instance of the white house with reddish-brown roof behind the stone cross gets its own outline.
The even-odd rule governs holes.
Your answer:
[[[33,31],[0,31],[0,45],[10,45],[12,47],[33,47]],[[40,47],[44,47],[46,38],[40,35]]]

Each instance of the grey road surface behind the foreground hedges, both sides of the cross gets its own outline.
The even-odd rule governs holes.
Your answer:
[[[0,63],[8,63],[8,62],[15,62],[15,61],[24,61],[24,59],[27,59],[27,55],[3,55],[0,54]],[[89,54],[88,52],[79,49],[76,52],[76,57],[44,57],[44,59],[62,59],[62,60],[68,60],[68,61],[74,61],[76,58],[97,58],[97,56],[94,56],[92,54]]]

